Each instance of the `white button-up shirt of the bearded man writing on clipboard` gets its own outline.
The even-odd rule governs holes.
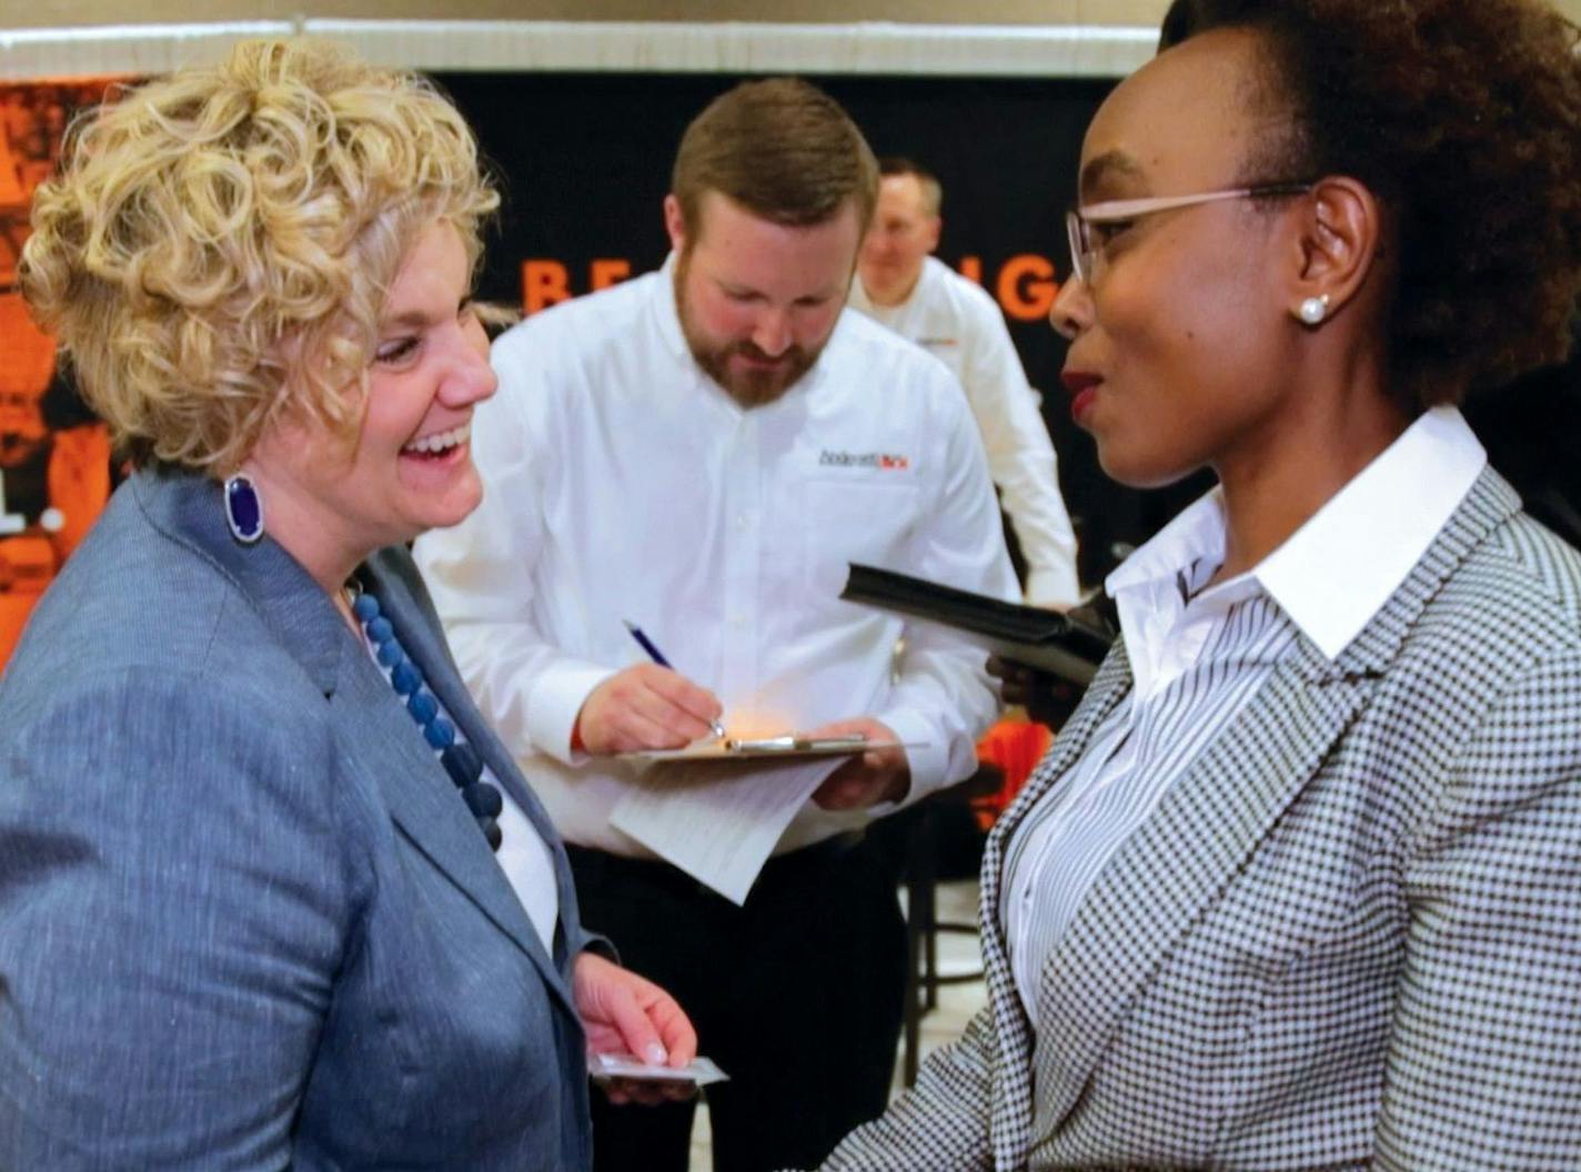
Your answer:
[[[530,317],[493,347],[484,504],[416,547],[473,695],[560,832],[609,825],[636,768],[571,749],[588,693],[645,662],[711,689],[732,731],[874,716],[912,796],[968,776],[996,701],[983,652],[838,600],[847,562],[1015,597],[982,442],[949,371],[844,313],[813,370],[743,409],[692,360],[672,265]],[[892,678],[896,640],[906,654]],[[808,804],[779,850],[862,825]]]

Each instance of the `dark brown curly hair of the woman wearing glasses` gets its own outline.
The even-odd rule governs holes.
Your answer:
[[[1175,0],[1160,49],[1246,28],[1289,115],[1246,182],[1352,175],[1393,213],[1385,322],[1415,414],[1564,359],[1581,292],[1581,57],[1537,0]]]

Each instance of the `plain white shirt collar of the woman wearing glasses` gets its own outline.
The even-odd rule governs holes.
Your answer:
[[[1334,659],[1406,581],[1486,463],[1461,412],[1434,408],[1241,577],[1255,578]],[[1197,561],[1222,564],[1224,540],[1224,493],[1214,488],[1110,573],[1105,589],[1124,616],[1126,594]]]

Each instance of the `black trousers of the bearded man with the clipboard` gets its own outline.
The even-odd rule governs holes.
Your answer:
[[[906,933],[870,843],[770,859],[740,908],[664,862],[569,853],[582,922],[674,994],[730,1076],[707,1090],[715,1172],[811,1167],[884,1110]],[[694,1110],[594,1091],[594,1172],[686,1172]]]

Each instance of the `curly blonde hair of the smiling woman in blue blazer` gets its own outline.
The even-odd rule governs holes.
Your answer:
[[[225,474],[281,412],[351,433],[406,250],[444,220],[476,267],[498,202],[428,81],[248,41],[71,128],[22,292],[133,460]]]

